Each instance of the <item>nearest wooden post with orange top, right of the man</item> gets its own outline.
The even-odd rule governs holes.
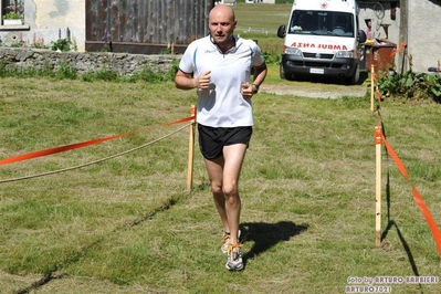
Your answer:
[[[376,225],[375,225],[375,244],[381,245],[381,144],[382,133],[381,125],[375,127],[376,144]]]

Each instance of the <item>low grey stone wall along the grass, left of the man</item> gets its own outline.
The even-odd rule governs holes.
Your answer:
[[[1,48],[0,63],[6,69],[57,70],[62,64],[78,74],[111,70],[120,75],[133,75],[145,69],[167,72],[180,55],[143,55],[108,52],[54,52],[50,50]]]

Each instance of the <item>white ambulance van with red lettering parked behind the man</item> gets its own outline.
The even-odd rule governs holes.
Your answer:
[[[366,33],[358,28],[355,0],[294,0],[284,38],[280,75],[343,77],[347,84],[359,81],[358,44]]]

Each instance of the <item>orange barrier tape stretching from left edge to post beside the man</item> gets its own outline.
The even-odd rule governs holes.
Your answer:
[[[181,124],[181,123],[185,123],[185,122],[190,122],[190,120],[193,120],[195,118],[196,118],[196,116],[192,115],[192,116],[189,116],[189,117],[186,117],[186,118],[182,118],[182,119],[178,119],[178,120],[165,124],[165,126],[177,125],[177,124]],[[113,140],[113,139],[116,139],[116,138],[122,138],[122,137],[126,137],[126,136],[129,136],[129,135],[135,135],[137,133],[143,132],[144,129],[145,128],[138,129],[138,130],[134,130],[134,132],[129,132],[129,133],[115,135],[115,136],[111,136],[111,137],[105,137],[105,138],[101,138],[101,139],[94,139],[94,140],[83,141],[83,143],[76,143],[76,144],[71,144],[71,145],[65,145],[65,146],[60,146],[60,147],[54,147],[54,148],[49,148],[49,149],[44,149],[44,150],[39,150],[39,151],[33,151],[33,153],[29,153],[29,154],[23,154],[23,155],[10,157],[10,158],[0,160],[0,166],[12,164],[12,162],[18,162],[18,161],[22,161],[22,160],[28,160],[28,159],[32,159],[32,158],[36,158],[36,157],[42,157],[42,156],[46,156],[46,155],[52,155],[52,154],[64,153],[64,151],[73,150],[73,149],[83,148],[83,147],[86,147],[86,146],[104,143],[104,141],[107,141],[107,140]]]

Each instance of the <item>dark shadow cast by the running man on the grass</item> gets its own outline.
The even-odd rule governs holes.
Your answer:
[[[290,241],[296,234],[306,231],[307,224],[295,224],[292,221],[280,221],[277,223],[248,222],[241,224],[241,239],[243,243],[254,241],[249,252],[243,254],[243,262],[253,259],[282,241]]]

